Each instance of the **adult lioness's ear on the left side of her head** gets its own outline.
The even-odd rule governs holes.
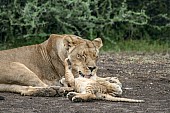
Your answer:
[[[82,43],[82,39],[75,35],[66,35],[63,40],[64,46],[68,52],[74,49],[78,44]]]

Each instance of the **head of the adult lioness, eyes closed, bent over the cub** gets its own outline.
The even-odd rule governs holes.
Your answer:
[[[73,35],[65,38],[64,45],[75,76],[90,78],[96,75],[96,61],[99,49],[103,46],[100,38],[90,41]]]

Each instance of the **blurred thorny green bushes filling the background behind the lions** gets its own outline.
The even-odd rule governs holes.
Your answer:
[[[101,37],[106,49],[126,40],[168,44],[169,6],[169,0],[1,0],[0,49],[40,43],[52,33]]]

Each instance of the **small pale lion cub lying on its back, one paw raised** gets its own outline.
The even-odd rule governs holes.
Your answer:
[[[68,58],[65,59],[65,82],[74,88],[75,92],[69,92],[67,97],[73,102],[90,101],[94,99],[124,102],[144,102],[128,98],[119,98],[122,94],[122,85],[115,77],[103,79],[88,79],[81,74],[74,78],[71,71],[71,63]]]

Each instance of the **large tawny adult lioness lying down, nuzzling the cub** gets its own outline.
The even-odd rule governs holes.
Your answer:
[[[0,91],[54,96],[62,89],[54,86],[65,74],[64,59],[69,57],[75,76],[81,72],[90,78],[101,47],[100,38],[52,34],[41,44],[0,51]]]

